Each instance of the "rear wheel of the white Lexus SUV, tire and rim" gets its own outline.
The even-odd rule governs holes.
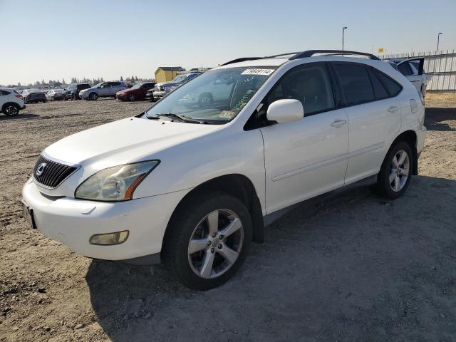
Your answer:
[[[413,153],[407,142],[397,142],[383,161],[374,190],[395,199],[403,195],[413,173]]]

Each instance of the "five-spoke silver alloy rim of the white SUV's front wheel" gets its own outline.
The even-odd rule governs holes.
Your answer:
[[[188,244],[192,271],[213,279],[231,269],[244,242],[244,227],[239,216],[228,209],[207,214],[195,227]]]

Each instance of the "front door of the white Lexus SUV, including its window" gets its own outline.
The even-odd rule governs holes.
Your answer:
[[[288,71],[266,95],[263,107],[294,98],[304,118],[260,128],[264,140],[266,212],[343,186],[347,168],[348,118],[336,109],[325,63],[306,63]]]

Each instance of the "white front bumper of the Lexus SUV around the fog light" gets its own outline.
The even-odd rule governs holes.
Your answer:
[[[133,199],[94,202],[43,196],[32,180],[22,190],[23,202],[33,210],[36,227],[46,237],[66,244],[85,257],[105,260],[135,259],[160,253],[172,212],[190,190]],[[89,243],[93,234],[129,230],[122,244]]]

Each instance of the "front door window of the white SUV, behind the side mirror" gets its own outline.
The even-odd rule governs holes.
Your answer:
[[[297,66],[286,73],[266,97],[269,105],[276,100],[300,100],[304,116],[335,108],[333,89],[323,64]]]

